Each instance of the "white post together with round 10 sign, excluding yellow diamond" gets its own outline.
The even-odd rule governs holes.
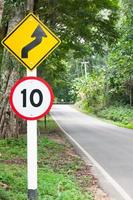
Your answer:
[[[29,76],[30,75],[30,76]],[[18,80],[11,89],[13,111],[27,120],[28,199],[37,199],[37,119],[49,113],[54,101],[50,85],[36,77],[36,69]]]

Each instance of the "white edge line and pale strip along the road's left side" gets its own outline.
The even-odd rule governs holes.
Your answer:
[[[92,164],[94,175],[98,178],[102,189],[108,193],[111,200],[132,200],[132,198],[125,192],[125,190],[106,172],[106,170],[87,152],[83,147],[72,138],[58,123],[53,114],[50,112],[51,117],[56,122],[58,127],[64,133],[66,138],[75,147],[77,153],[84,159],[87,164]],[[107,186],[105,186],[107,185]]]

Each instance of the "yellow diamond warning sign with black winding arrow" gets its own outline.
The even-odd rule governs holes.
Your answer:
[[[60,39],[32,13],[2,41],[30,70],[37,67],[60,43]]]

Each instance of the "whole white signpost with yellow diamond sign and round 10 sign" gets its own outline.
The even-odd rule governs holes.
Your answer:
[[[54,95],[49,84],[37,77],[36,67],[61,43],[33,13],[28,14],[2,41],[27,68],[27,77],[11,89],[10,105],[27,120],[28,199],[37,199],[37,119],[50,111]]]

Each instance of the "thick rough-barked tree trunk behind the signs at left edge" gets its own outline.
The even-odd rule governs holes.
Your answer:
[[[13,17],[8,22],[8,32],[10,32],[23,18],[21,5],[14,8]],[[0,137],[18,137],[22,120],[12,112],[9,105],[9,94],[11,87],[20,78],[19,71],[21,65],[18,61],[4,49],[1,65],[1,97],[0,97]]]

